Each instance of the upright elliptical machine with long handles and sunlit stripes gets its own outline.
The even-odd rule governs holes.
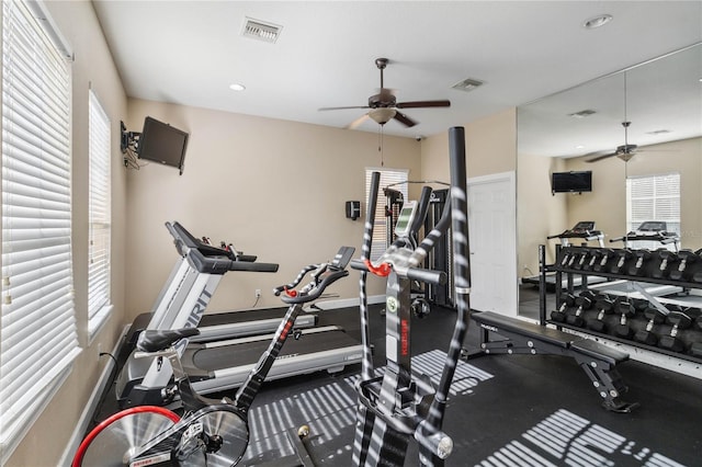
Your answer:
[[[380,173],[371,179],[369,208],[366,209],[363,250],[351,267],[361,271],[360,315],[363,360],[353,443],[353,465],[404,466],[409,438],[419,443],[419,462],[424,466],[442,466],[453,451],[453,441],[442,431],[448,392],[461,354],[468,322],[469,264],[467,229],[467,195],[465,169],[465,137],[462,127],[449,130],[451,158],[451,203],[446,204],[441,220],[417,243],[412,235],[419,231],[428,205],[429,192],[422,192],[418,206],[403,207],[396,232],[398,239],[371,262],[371,241],[377,202]],[[410,284],[446,282],[444,272],[421,269],[423,260],[435,241],[445,235],[452,224],[453,271],[456,297],[456,323],[444,362],[441,380],[434,389],[423,375],[412,373],[410,352],[410,322],[414,315]],[[404,230],[409,227],[407,230]],[[387,277],[386,288],[386,360],[385,373],[373,375],[373,360],[369,327],[365,283],[367,273]]]

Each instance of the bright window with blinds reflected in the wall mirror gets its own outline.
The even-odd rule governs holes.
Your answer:
[[[680,234],[679,173],[626,179],[627,231],[636,230],[642,223],[649,220],[664,221],[667,231]],[[655,241],[637,241],[634,247],[656,249],[663,246]]]

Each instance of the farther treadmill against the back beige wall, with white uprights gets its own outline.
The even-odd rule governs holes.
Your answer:
[[[224,244],[216,248],[208,242],[199,240],[179,223],[167,223],[166,227],[173,237],[173,243],[179,252],[178,261],[173,266],[166,284],[161,288],[150,312],[137,316],[125,338],[123,354],[129,354],[136,345],[136,339],[143,330],[178,329],[179,323],[184,323],[182,317],[188,316],[189,309],[196,304],[212,297],[222,275],[207,275],[203,271],[195,270],[186,260],[183,250],[197,249],[205,257],[226,257],[233,261],[253,263],[254,255],[242,254],[233,244]],[[257,263],[258,264],[258,263]],[[272,265],[265,271],[254,269],[254,272],[275,272]],[[250,271],[250,270],[244,270]],[[280,320],[285,315],[284,307],[262,308],[230,312],[217,312],[202,315],[197,328],[200,334],[191,338],[191,342],[210,342],[222,339],[256,335],[274,332]],[[297,317],[295,328],[309,328],[317,324],[317,315],[305,314]]]

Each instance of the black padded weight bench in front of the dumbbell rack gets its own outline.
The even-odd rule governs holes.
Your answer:
[[[626,362],[629,354],[590,339],[546,328],[491,311],[474,312],[480,326],[480,350],[468,358],[487,354],[564,355],[575,358],[602,397],[602,406],[613,412],[631,412],[638,403],[622,401],[627,390],[615,366]],[[490,340],[490,333],[507,339]]]

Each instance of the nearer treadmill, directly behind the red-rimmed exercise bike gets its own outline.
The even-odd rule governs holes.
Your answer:
[[[178,248],[190,265],[203,276],[222,276],[227,271],[237,271],[242,267],[260,271],[261,267],[260,263],[235,261],[229,257],[207,257],[199,248],[188,248],[183,243]],[[343,247],[335,257],[332,266],[346,267],[353,251],[351,247]],[[206,306],[208,297],[203,298]],[[176,321],[173,329],[197,326],[197,319],[193,316],[202,312],[204,307],[200,304],[191,309],[190,318],[185,319],[184,323]],[[279,324],[280,322],[279,320]],[[347,365],[361,361],[361,344],[340,327],[295,329],[293,332],[295,339],[286,342],[267,379],[320,371],[336,373]],[[251,335],[191,345],[183,340],[177,350],[181,354],[183,367],[191,377],[193,388],[197,392],[208,394],[240,386],[268,348],[272,335],[273,333]],[[120,407],[170,403],[176,396],[171,376],[172,369],[168,361],[158,356],[135,358],[133,352],[116,381],[116,398]]]

